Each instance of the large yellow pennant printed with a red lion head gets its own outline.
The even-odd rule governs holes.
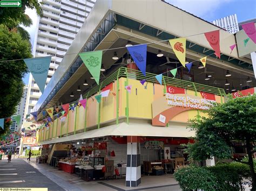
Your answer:
[[[169,40],[172,49],[179,59],[181,65],[185,67],[186,61],[186,38],[176,38]]]

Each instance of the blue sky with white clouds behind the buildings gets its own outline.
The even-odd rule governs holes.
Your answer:
[[[121,0],[122,1],[122,0]],[[138,0],[140,1],[140,0]],[[178,6],[187,12],[192,13],[208,22],[237,14],[238,22],[256,18],[256,0],[165,0],[166,2]],[[33,20],[31,27],[25,27],[30,33],[31,44],[35,39],[37,15],[35,10],[26,9],[26,14]],[[23,79],[28,84],[29,75]]]

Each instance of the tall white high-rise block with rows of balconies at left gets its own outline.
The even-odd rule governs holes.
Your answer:
[[[96,0],[43,0],[42,2],[44,15],[37,19],[33,55],[52,56],[45,84],[47,86]],[[30,74],[26,114],[30,114],[41,95]]]

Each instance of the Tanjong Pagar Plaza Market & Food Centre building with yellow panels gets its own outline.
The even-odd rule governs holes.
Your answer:
[[[220,59],[204,35],[214,30],[220,30]],[[228,93],[254,93],[250,53],[255,44],[248,41],[249,50],[243,47],[244,36],[244,31],[230,34],[163,1],[97,1],[33,111],[42,121],[43,110],[77,103],[80,94],[87,98],[86,108],[77,106],[65,121],[56,118],[38,130],[37,141],[51,146],[49,157],[59,149],[56,145],[106,142],[107,151],[100,155],[105,153],[115,166],[126,164],[124,184],[138,186],[141,174],[150,173],[148,162],[185,158],[180,144],[193,143],[194,132],[187,129],[190,119],[205,115],[203,110],[212,102],[224,103]],[[180,37],[186,37],[187,63],[193,62],[189,73],[164,41]],[[133,63],[128,44],[147,44],[146,76]],[[99,84],[78,55],[97,50],[104,50]],[[199,61],[204,56],[205,68]],[[168,71],[177,67],[173,78]],[[159,84],[155,76],[162,73]],[[131,93],[125,89],[129,85]],[[98,103],[95,96],[104,88],[110,94]]]

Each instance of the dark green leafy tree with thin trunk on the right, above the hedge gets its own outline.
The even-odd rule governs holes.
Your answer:
[[[208,117],[199,116],[191,121],[190,128],[196,130],[196,142],[188,144],[190,159],[206,160],[214,156],[220,159],[231,158],[249,165],[252,190],[255,190],[252,154],[255,152],[256,139],[256,95],[230,98],[224,104],[214,104],[205,112]],[[234,141],[245,143],[248,161],[232,157]]]

